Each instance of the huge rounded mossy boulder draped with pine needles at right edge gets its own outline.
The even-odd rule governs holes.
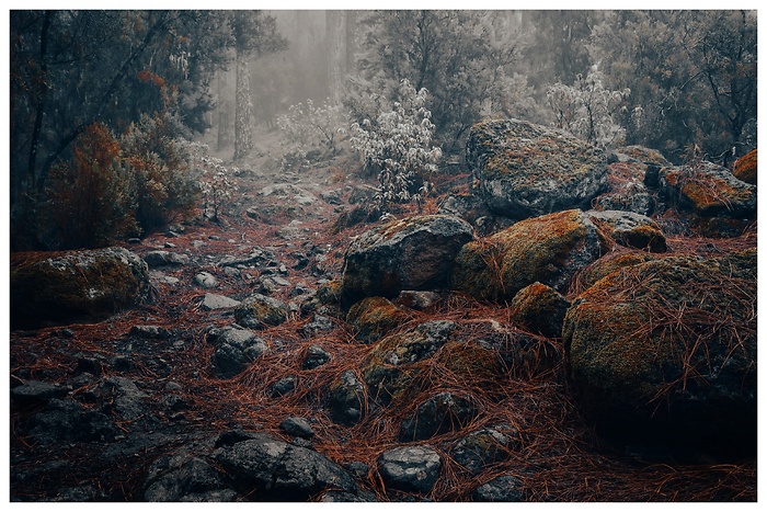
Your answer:
[[[756,249],[626,266],[565,316],[568,373],[602,432],[755,448]]]

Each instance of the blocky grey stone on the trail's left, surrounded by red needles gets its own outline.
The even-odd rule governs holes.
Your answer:
[[[239,326],[211,329],[207,341],[215,348],[210,355],[213,374],[220,378],[242,373],[268,350],[263,338]]]

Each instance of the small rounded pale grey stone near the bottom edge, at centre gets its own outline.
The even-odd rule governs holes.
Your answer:
[[[378,473],[387,489],[428,492],[442,469],[442,457],[427,445],[403,446],[378,457]]]

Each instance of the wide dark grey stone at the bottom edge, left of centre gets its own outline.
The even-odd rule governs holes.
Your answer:
[[[268,434],[221,446],[214,457],[236,489],[253,501],[307,501],[324,490],[354,493],[354,479],[318,452]]]

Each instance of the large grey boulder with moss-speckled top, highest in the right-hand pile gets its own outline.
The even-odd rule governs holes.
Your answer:
[[[606,157],[563,132],[517,120],[471,127],[466,161],[474,191],[499,215],[524,219],[587,208],[606,189]]]

